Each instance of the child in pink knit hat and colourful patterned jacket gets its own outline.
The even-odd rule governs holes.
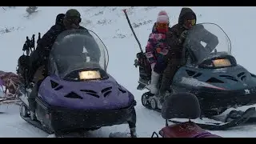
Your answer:
[[[163,70],[166,69],[166,32],[169,29],[169,17],[166,11],[158,13],[157,22],[154,23],[152,33],[146,45],[146,58],[151,65],[151,81],[148,88],[152,94],[158,94],[158,79]]]

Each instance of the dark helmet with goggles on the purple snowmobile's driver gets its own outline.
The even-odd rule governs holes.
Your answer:
[[[70,9],[66,11],[63,23],[66,28],[78,28],[81,22],[81,14],[78,10]]]

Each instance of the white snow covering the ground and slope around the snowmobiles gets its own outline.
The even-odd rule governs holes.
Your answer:
[[[38,13],[26,17],[26,7],[0,9],[0,70],[15,72],[18,57],[22,54],[22,46],[26,36],[46,33],[54,25],[55,17],[65,13],[71,7],[38,7]],[[73,7],[74,8],[74,7]],[[144,91],[136,90],[138,86],[138,69],[134,67],[134,58],[139,51],[138,43],[131,33],[122,9],[127,8],[130,21],[135,33],[146,46],[147,38],[160,10],[170,14],[170,25],[178,22],[178,15],[182,7],[139,6],[139,7],[75,7],[82,14],[82,26],[93,30],[105,42],[109,54],[110,64],[108,72],[116,80],[130,90],[137,102],[137,130],[139,137],[150,137],[154,131],[165,126],[161,114],[147,110],[141,104]],[[254,14],[255,7],[191,7],[198,16],[198,22],[214,22],[226,31],[232,42],[232,51],[237,61],[252,73],[256,73],[251,66],[254,58]],[[4,33],[7,29],[9,33]],[[37,36],[36,36],[37,37]],[[30,126],[19,117],[18,106],[0,105],[0,137],[48,137],[48,134]],[[108,137],[110,132],[129,132],[127,125],[103,127],[88,134],[89,137]],[[211,131],[222,137],[256,137],[256,126],[236,127],[226,131]]]

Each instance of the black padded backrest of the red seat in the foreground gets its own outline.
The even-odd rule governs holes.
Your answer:
[[[162,105],[162,118],[199,118],[201,114],[198,98],[190,93],[172,94]]]

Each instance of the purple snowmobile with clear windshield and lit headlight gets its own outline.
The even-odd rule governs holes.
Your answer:
[[[88,130],[124,123],[129,124],[130,136],[137,137],[134,95],[106,72],[108,58],[106,46],[93,31],[59,34],[50,50],[48,76],[39,86],[37,120],[30,118],[27,88],[20,97],[21,117],[56,137],[82,137]]]

